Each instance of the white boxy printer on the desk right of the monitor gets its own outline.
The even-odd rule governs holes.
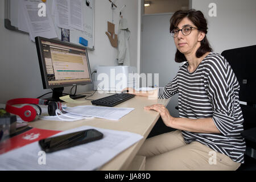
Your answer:
[[[93,79],[94,90],[122,91],[131,87],[138,88],[136,67],[130,66],[97,66]]]

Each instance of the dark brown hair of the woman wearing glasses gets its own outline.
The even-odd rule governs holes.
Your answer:
[[[201,46],[196,51],[196,57],[201,57],[207,52],[212,52],[212,48],[210,47],[210,44],[207,40],[207,20],[204,18],[204,14],[201,11],[196,11],[194,9],[183,11],[179,10],[176,11],[171,19],[170,19],[170,32],[177,28],[177,25],[181,22],[183,18],[187,17],[195,26],[198,28],[199,31],[202,31],[205,33],[205,37],[203,40],[201,40]],[[178,49],[175,54],[175,61],[177,63],[181,63],[183,61],[187,61],[186,57],[183,53],[181,53]]]

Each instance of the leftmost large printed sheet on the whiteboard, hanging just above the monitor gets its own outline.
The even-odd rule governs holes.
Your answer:
[[[41,0],[20,0],[20,2],[32,41],[35,41],[36,36],[43,36],[49,39],[57,37],[52,19],[48,15],[49,11],[46,10],[46,16],[38,15],[38,5],[42,3]]]

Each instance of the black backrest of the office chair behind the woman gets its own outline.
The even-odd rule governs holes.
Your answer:
[[[256,45],[228,49],[221,53],[229,62],[240,85],[240,101],[247,102],[241,105],[244,129],[256,127]]]

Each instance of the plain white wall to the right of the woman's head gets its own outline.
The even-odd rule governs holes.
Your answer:
[[[217,16],[210,17],[209,3],[216,3]],[[192,0],[192,8],[208,19],[208,39],[215,52],[256,44],[255,0]]]

